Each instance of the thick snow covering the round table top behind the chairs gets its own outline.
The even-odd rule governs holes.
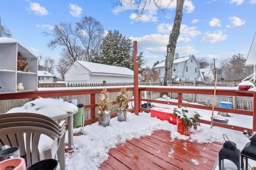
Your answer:
[[[49,117],[58,117],[77,111],[77,107],[61,98],[38,98],[22,107],[15,107],[7,113],[38,113]]]

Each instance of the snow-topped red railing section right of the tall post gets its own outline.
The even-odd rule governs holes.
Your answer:
[[[174,106],[186,105],[187,107],[191,107],[191,108],[205,109],[205,110],[210,110],[210,111],[212,110],[212,106],[204,106],[204,105],[195,105],[195,104],[183,103],[182,94],[213,95],[213,93],[214,93],[213,88],[209,88],[209,87],[196,87],[195,88],[195,87],[163,87],[163,86],[162,87],[161,86],[150,87],[150,86],[140,86],[139,87],[139,94],[141,94],[141,91],[157,91],[157,92],[178,93],[178,102],[162,101],[162,100],[151,100],[151,99],[144,99],[144,98],[140,97],[139,98],[140,103],[141,103],[141,101],[149,101],[149,102],[154,102],[154,103],[159,103],[159,104],[174,105]],[[235,90],[234,88],[230,88],[230,89],[228,89],[228,88],[219,88],[216,91],[216,95],[218,95],[218,96],[253,97],[253,111],[246,111],[246,110],[242,110],[242,109],[214,107],[214,111],[228,112],[228,113],[252,116],[253,124],[252,124],[252,129],[243,128],[243,127],[236,126],[236,125],[217,123],[217,122],[213,122],[214,126],[219,126],[221,128],[227,128],[227,129],[233,129],[233,130],[237,130],[237,131],[247,130],[250,133],[256,131],[256,92]],[[149,112],[149,109],[145,109],[145,108],[140,107],[139,111]],[[209,115],[209,116],[211,116],[211,115]],[[201,123],[211,124],[211,121],[201,120]]]

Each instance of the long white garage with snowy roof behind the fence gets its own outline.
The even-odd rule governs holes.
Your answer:
[[[126,67],[75,61],[65,74],[66,84],[133,82],[133,71]]]

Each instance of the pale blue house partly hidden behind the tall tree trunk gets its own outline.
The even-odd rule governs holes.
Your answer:
[[[165,61],[160,62],[154,69],[160,73],[160,81],[164,80]],[[194,81],[201,79],[199,64],[194,55],[179,57],[175,54],[173,61],[172,79],[181,81]]]

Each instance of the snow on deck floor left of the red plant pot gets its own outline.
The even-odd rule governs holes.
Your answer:
[[[148,113],[127,114],[126,122],[110,120],[110,126],[103,128],[97,123],[87,125],[84,134],[74,137],[75,152],[66,156],[67,169],[98,169],[108,159],[108,151],[126,140],[151,135],[155,130],[175,131],[176,126],[167,121],[150,117]],[[75,129],[78,132],[80,129]],[[67,142],[67,139],[66,139]]]

